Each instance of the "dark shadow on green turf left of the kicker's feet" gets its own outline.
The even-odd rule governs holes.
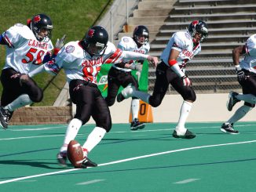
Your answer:
[[[51,161],[51,160],[49,160]],[[2,160],[0,165],[24,165],[37,168],[47,168],[47,169],[63,169],[63,167],[54,167],[57,165],[57,162],[42,162],[37,160]]]

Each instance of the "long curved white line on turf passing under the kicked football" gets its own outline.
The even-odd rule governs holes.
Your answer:
[[[112,164],[122,163],[122,162],[126,162],[126,161],[137,160],[140,158],[150,158],[150,157],[158,156],[161,154],[172,154],[175,152],[180,152],[180,151],[185,151],[185,150],[196,150],[196,149],[202,149],[202,148],[207,148],[207,147],[220,147],[220,146],[255,143],[255,142],[256,142],[256,140],[251,140],[251,141],[243,141],[243,142],[237,142],[237,143],[222,143],[222,144],[205,145],[205,146],[198,146],[198,147],[188,147],[188,148],[183,148],[183,149],[179,149],[179,150],[167,150],[167,151],[156,153],[156,154],[147,154],[147,155],[142,155],[142,156],[138,156],[135,158],[126,158],[126,159],[122,159],[122,160],[118,160],[118,161],[103,163],[98,166],[101,167],[101,166],[105,166],[105,165],[112,165]],[[20,178],[16,178],[16,179],[4,180],[4,181],[1,181],[0,184],[11,183],[14,181],[20,181],[20,180],[30,179],[30,178],[40,177],[40,176],[51,176],[51,175],[55,175],[55,174],[59,174],[59,173],[63,173],[63,172],[74,172],[74,171],[78,171],[80,169],[81,168],[71,168],[71,169],[58,171],[58,172],[47,172],[47,173],[42,173],[42,174],[34,175],[34,176],[24,176],[24,177],[20,177]]]

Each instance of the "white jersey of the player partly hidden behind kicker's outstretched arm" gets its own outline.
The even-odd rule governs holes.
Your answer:
[[[142,53],[142,54],[147,54],[150,49],[148,42],[146,43],[146,45],[141,45],[141,47],[139,48],[137,46],[137,43],[134,42],[133,38],[130,38],[130,37],[121,38],[121,41],[119,42],[119,45],[117,45],[117,47],[123,51],[130,51],[130,52],[136,52],[136,53]],[[134,62],[133,60],[123,60],[123,61],[127,63]],[[113,67],[115,67],[120,71],[126,71],[126,72],[131,71],[130,69],[127,69],[127,68],[116,67],[115,64],[113,65]]]

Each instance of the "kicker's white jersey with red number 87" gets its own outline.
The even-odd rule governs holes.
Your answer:
[[[103,63],[119,63],[126,53],[116,49],[112,42],[108,42],[107,49],[102,56],[90,56],[86,53],[80,42],[68,42],[64,45],[56,58],[44,65],[46,71],[57,74],[63,68],[67,81],[81,79],[97,84],[97,74],[101,71]],[[133,57],[131,57],[133,58]]]

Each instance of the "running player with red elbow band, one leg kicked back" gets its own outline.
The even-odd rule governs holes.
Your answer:
[[[194,133],[185,129],[185,121],[192,108],[192,103],[196,100],[196,93],[192,89],[190,79],[185,74],[185,67],[189,60],[200,53],[200,43],[205,41],[207,36],[207,24],[202,20],[192,21],[187,31],[174,33],[163,50],[162,62],[159,63],[155,71],[156,80],[152,96],[146,92],[137,91],[133,86],[127,86],[119,93],[125,98],[135,96],[152,107],[158,107],[162,103],[169,84],[172,85],[184,100],[177,126],[173,132],[175,138],[192,139],[196,137]]]

